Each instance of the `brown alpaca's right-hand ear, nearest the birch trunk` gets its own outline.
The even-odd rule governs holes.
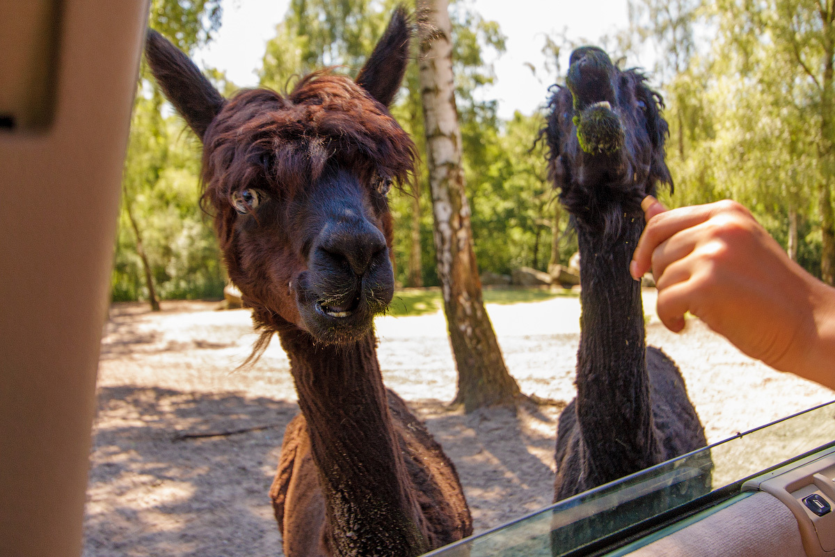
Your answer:
[[[394,95],[400,89],[409,61],[411,38],[412,24],[406,8],[398,6],[386,33],[383,33],[374,52],[357,75],[357,84],[385,106],[392,104]]]

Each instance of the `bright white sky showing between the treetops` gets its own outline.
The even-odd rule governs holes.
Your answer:
[[[546,35],[564,29],[569,39],[596,43],[616,28],[627,28],[626,0],[462,0],[483,18],[499,23],[508,38],[507,52],[494,61],[496,84],[485,92],[498,99],[498,115],[509,119],[514,110],[532,114],[546,97],[552,76],[543,75],[541,52]],[[267,40],[275,36],[276,24],[284,17],[289,0],[224,0],[223,23],[217,38],[195,53],[197,61],[226,72],[242,87],[257,84],[256,68]],[[563,68],[568,53],[564,53]],[[539,70],[539,78],[528,64]],[[651,60],[629,60],[629,65],[651,66]]]

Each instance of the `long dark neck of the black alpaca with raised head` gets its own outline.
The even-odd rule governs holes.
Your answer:
[[[586,473],[605,483],[658,462],[646,372],[640,282],[629,274],[643,215],[626,215],[615,241],[578,226],[580,342],[577,416]]]

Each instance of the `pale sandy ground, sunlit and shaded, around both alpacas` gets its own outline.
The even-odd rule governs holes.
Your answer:
[[[234,371],[255,340],[249,311],[216,306],[169,302],[158,314],[112,308],[99,364],[85,557],[281,555],[267,489],[298,410],[289,365],[273,342],[255,367]],[[647,311],[654,306],[654,291],[645,291]],[[523,392],[573,398],[579,301],[488,312]],[[455,371],[443,315],[381,317],[377,334],[385,382],[458,467],[476,532],[550,503],[561,404],[518,414],[450,411]],[[647,338],[681,367],[711,443],[835,398],[751,360],[696,320],[675,335],[652,315]]]

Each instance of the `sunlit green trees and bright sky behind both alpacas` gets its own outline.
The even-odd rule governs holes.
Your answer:
[[[393,4],[154,0],[151,24],[177,35],[180,48],[228,96],[258,85],[284,90],[294,76],[322,65],[356,73]],[[736,199],[792,258],[832,281],[823,269],[835,269],[835,124],[828,116],[835,114],[835,90],[824,71],[833,54],[821,37],[832,23],[820,21],[816,5],[453,2],[456,101],[479,271],[548,271],[566,265],[576,251],[568,217],[554,202],[544,149],[534,142],[549,86],[563,78],[571,49],[591,43],[621,68],[642,68],[663,94],[670,124],[666,160],[676,185],[665,203]],[[331,10],[342,9],[342,19],[332,17],[337,12]],[[303,33],[305,26],[312,31]],[[341,33],[357,40],[348,44]],[[414,66],[410,72],[392,114],[424,149]],[[219,297],[225,283],[220,253],[197,205],[199,144],[151,80],[143,80],[141,91],[124,171],[114,300],[147,300],[154,281],[161,299]],[[415,185],[423,190],[417,205],[401,192],[391,195],[397,283],[438,286],[423,166]]]

